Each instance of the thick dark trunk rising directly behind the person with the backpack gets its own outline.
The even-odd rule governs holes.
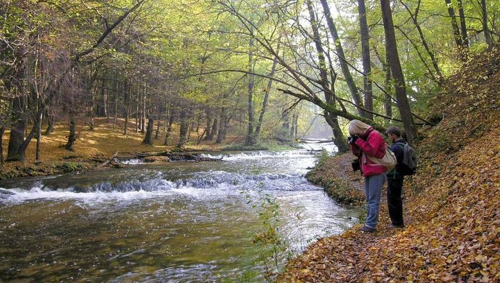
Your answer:
[[[406,84],[403,76],[403,70],[401,69],[401,62],[399,62],[396,35],[394,34],[394,23],[392,22],[392,12],[390,9],[390,0],[381,0],[381,8],[385,31],[385,44],[387,46],[387,58],[389,60],[392,78],[394,78],[399,114],[401,114],[401,120],[403,120],[406,137],[408,141],[412,141],[412,139],[417,137],[417,128],[415,128],[415,122],[413,121],[410,110],[410,103],[408,101],[408,97],[406,96]]]

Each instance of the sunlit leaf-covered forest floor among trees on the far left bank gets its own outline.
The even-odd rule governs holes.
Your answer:
[[[128,124],[128,135],[123,135],[124,121],[117,120],[117,125],[113,129],[113,119],[108,123],[106,118],[94,119],[94,130],[84,123],[77,123],[76,133],[78,139],[74,144],[74,151],[67,151],[65,144],[69,135],[69,123],[58,123],[51,135],[42,135],[40,142],[40,160],[35,160],[36,140],[33,139],[26,150],[26,162],[6,162],[0,164],[0,180],[6,178],[19,178],[36,175],[52,175],[57,173],[69,173],[73,171],[83,171],[88,169],[98,169],[99,166],[110,160],[113,156],[133,158],[135,153],[151,153],[175,151],[175,144],[178,139],[178,125],[173,125],[169,146],[164,146],[165,132],[160,130],[158,139],[154,139],[153,146],[142,144],[144,134],[135,132],[135,123]],[[156,131],[156,126],[155,126]],[[199,132],[192,132],[190,141],[183,151],[187,152],[208,152],[222,151],[228,144],[242,143],[240,137],[228,136],[224,144],[215,144],[215,141],[201,141],[197,144],[197,139],[201,135]],[[153,133],[154,136],[154,133]],[[4,154],[8,146],[8,132],[3,135]],[[276,145],[272,145],[276,146]],[[285,148],[286,146],[281,146]],[[240,148],[241,146],[233,146]],[[263,146],[254,146],[256,149],[263,149]],[[5,156],[4,156],[5,157]],[[111,165],[108,164],[107,166]],[[103,166],[106,167],[106,166]]]

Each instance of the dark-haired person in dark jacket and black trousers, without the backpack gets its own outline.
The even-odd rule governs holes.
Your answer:
[[[398,127],[389,127],[385,134],[392,142],[390,150],[396,155],[397,165],[387,172],[387,205],[391,218],[390,228],[403,228],[403,200],[401,191],[403,190],[404,175],[398,171],[398,166],[403,160],[403,148],[406,140],[401,137],[401,130]]]

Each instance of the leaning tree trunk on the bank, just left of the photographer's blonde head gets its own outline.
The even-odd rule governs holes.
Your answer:
[[[324,89],[324,96],[325,96],[325,101],[326,103],[332,105],[333,107],[336,107],[335,103],[335,91],[333,90],[334,87],[334,77],[332,77],[332,82],[331,84],[328,82],[328,71],[326,69],[326,60],[324,57],[324,49],[321,44],[321,38],[319,37],[319,31],[318,31],[318,23],[315,17],[315,13],[313,10],[313,4],[311,3],[310,0],[307,1],[308,5],[308,10],[309,10],[309,17],[310,17],[310,22],[311,26],[313,27],[313,37],[315,40],[315,46],[317,50],[317,55],[318,55],[318,60],[319,60],[319,77],[322,80],[323,84],[323,89]],[[349,150],[349,146],[347,146],[347,142],[345,141],[344,134],[342,133],[342,130],[340,129],[340,126],[338,124],[338,117],[335,114],[331,114],[331,112],[325,111],[325,119],[328,125],[332,128],[333,131],[333,143],[335,146],[337,146],[339,152],[344,153]]]

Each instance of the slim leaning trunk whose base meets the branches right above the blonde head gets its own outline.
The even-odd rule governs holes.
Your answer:
[[[349,71],[349,66],[347,65],[347,60],[344,54],[344,49],[342,48],[342,44],[340,43],[340,39],[337,33],[337,28],[335,27],[335,23],[333,22],[333,18],[331,16],[330,7],[328,7],[328,3],[326,0],[321,0],[324,15],[326,17],[326,23],[328,24],[328,30],[330,31],[330,35],[335,42],[335,51],[337,52],[339,58],[340,69],[342,69],[342,74],[344,74],[344,78],[346,80],[347,86],[349,87],[349,91],[351,92],[351,96],[353,98],[354,103],[358,105],[358,113],[361,117],[366,118],[366,112],[361,108],[364,108],[363,101],[361,100],[361,96],[358,92],[358,87],[354,83],[353,77],[351,75],[351,71]]]

